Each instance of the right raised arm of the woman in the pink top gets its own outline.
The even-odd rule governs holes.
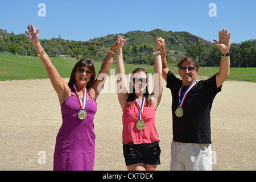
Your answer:
[[[156,46],[155,46],[155,51],[159,51],[159,44],[160,44],[160,39],[156,39]],[[156,107],[158,107],[161,97],[162,97],[162,91],[163,91],[163,76],[162,76],[162,61],[161,61],[161,55],[160,53],[156,53],[155,55],[155,65],[154,65],[154,70],[155,70],[155,86],[153,93],[150,95],[152,97],[152,102],[154,103],[155,110]]]

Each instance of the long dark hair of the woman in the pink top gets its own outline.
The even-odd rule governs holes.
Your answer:
[[[138,72],[144,72],[144,73],[146,73],[146,75],[147,75],[147,71],[146,71],[145,69],[143,69],[143,68],[134,69],[134,71],[133,71],[132,74],[134,75],[134,73],[138,73]],[[134,89],[133,84],[132,84],[132,82],[133,82],[133,75],[131,75],[131,77],[130,77],[130,82],[129,82],[129,84],[130,84],[130,85],[129,85],[129,96],[128,96],[127,101],[126,101],[126,103],[127,103],[129,106],[131,106],[131,103],[134,102],[135,99],[136,99],[136,97],[135,97],[135,89]],[[147,75],[147,80],[148,80],[148,75]],[[147,86],[148,86],[148,85],[147,85]],[[144,93],[144,96],[145,96],[145,98],[146,98],[146,106],[151,106],[151,100],[148,100],[148,96],[149,96],[150,94],[148,93],[147,86],[146,86],[146,93]]]

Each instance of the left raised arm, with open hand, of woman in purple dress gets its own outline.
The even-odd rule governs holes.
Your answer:
[[[44,49],[39,42],[39,31],[35,30],[32,24],[27,27],[28,32],[26,34],[30,42],[34,45],[36,53],[38,53],[40,60],[42,61],[44,67],[46,67],[48,76],[51,80],[52,86],[55,89],[57,96],[59,97],[60,105],[71,95],[71,89],[68,87],[67,82],[60,77],[57,69],[53,66],[51,60],[47,53],[44,53]]]

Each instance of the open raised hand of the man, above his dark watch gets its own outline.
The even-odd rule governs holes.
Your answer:
[[[218,33],[218,42],[217,40],[213,40],[213,42],[216,44],[216,46],[221,50],[222,53],[228,53],[230,48],[230,32],[228,33],[228,30],[225,30],[224,28],[222,31]]]

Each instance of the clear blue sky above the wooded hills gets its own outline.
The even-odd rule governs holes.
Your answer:
[[[46,16],[40,17],[39,3],[46,5]],[[216,4],[216,15],[209,16],[210,3]],[[187,31],[213,42],[218,31],[228,29],[232,43],[256,39],[255,0],[112,0],[2,1],[0,28],[22,34],[27,24],[41,29],[40,39],[58,38],[89,40],[129,31]]]

